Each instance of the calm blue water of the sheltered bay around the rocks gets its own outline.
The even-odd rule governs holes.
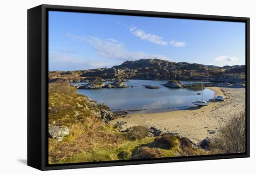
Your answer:
[[[188,88],[166,88],[162,84],[167,81],[130,80],[124,82],[134,88],[103,88],[103,89],[78,89],[78,93],[87,95],[97,102],[106,104],[111,110],[140,110],[128,113],[151,113],[185,109],[194,106],[193,100],[202,99],[201,90]],[[184,84],[198,84],[200,82],[181,81]],[[86,84],[86,83],[73,83]],[[155,85],[159,89],[147,89],[142,85]],[[208,101],[214,97],[214,92],[203,90],[203,99]]]

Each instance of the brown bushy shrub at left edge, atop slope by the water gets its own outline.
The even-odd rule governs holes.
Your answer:
[[[57,81],[54,83],[49,83],[49,93],[57,92],[64,94],[76,94],[76,88],[69,85],[67,81]]]

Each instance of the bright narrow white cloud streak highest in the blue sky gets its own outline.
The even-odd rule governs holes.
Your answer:
[[[130,32],[132,34],[134,34],[136,37],[141,38],[141,40],[146,40],[146,41],[152,42],[152,43],[157,44],[157,45],[162,45],[162,46],[172,45],[172,46],[175,46],[175,47],[184,47],[184,46],[186,46],[185,42],[176,41],[176,40],[166,41],[166,40],[163,40],[163,38],[161,36],[146,33],[145,31],[143,31],[143,30],[141,30],[141,29],[139,29],[135,26],[131,26],[129,29],[130,29]]]

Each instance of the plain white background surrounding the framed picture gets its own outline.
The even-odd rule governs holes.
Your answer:
[[[104,7],[176,13],[250,17],[251,157],[229,160],[162,163],[40,172],[27,159],[27,9],[40,4]],[[207,174],[256,172],[255,87],[256,5],[254,0],[5,0],[0,10],[0,174]]]

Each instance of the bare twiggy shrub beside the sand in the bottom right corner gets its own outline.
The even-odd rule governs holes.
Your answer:
[[[216,146],[223,153],[245,152],[245,111],[236,114],[218,134],[220,143]]]

